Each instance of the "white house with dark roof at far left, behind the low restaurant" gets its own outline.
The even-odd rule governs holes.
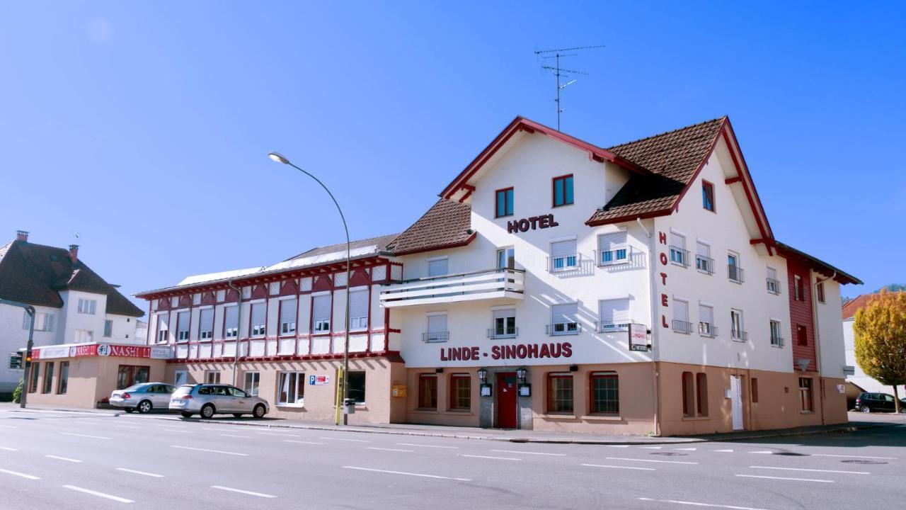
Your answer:
[[[0,298],[34,306],[35,346],[140,341],[135,329],[144,312],[80,260],[74,244],[68,250],[34,244],[28,232],[17,231],[0,246]],[[24,370],[10,368],[7,359],[24,348],[28,328],[24,309],[0,304],[0,394],[23,378]]]

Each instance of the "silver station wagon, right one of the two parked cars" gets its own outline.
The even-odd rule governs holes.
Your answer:
[[[264,417],[270,410],[267,400],[254,397],[235,386],[226,384],[187,384],[177,388],[170,396],[169,409],[179,411],[182,417],[198,413],[203,418],[216,414],[234,417],[252,415]]]

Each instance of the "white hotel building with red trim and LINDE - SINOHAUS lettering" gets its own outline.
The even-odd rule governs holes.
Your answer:
[[[355,242],[348,284],[335,245],[141,293],[169,382],[231,382],[235,360],[277,416],[333,417],[350,289],[352,423],[846,420],[839,287],[859,281],[774,239],[726,117],[609,149],[516,118],[440,197]]]

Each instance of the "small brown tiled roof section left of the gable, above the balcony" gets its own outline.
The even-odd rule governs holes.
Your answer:
[[[472,208],[467,203],[440,199],[387,248],[396,255],[463,246],[475,239]]]

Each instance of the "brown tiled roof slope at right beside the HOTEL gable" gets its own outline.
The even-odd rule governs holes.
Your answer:
[[[654,173],[633,174],[604,207],[587,221],[600,224],[667,214],[708,158],[727,117],[664,132],[608,151]]]

